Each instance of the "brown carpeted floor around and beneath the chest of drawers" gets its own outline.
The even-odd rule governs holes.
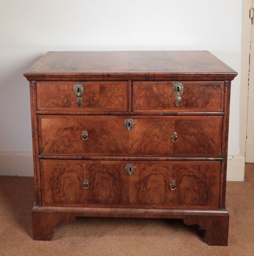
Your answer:
[[[182,220],[77,218],[50,242],[33,241],[33,178],[0,176],[0,255],[254,255],[254,164],[244,182],[228,182],[229,246],[209,246]]]

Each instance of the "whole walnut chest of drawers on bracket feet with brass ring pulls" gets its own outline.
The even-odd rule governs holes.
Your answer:
[[[180,218],[227,245],[234,70],[207,51],[49,52],[24,75],[33,239],[77,216]]]

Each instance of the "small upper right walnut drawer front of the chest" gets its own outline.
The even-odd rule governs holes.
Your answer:
[[[133,82],[133,111],[223,111],[224,82],[183,81],[180,101],[173,92],[174,83]]]

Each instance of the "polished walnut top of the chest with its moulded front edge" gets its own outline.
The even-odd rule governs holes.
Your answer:
[[[208,51],[48,52],[28,80],[229,80],[237,75]]]

